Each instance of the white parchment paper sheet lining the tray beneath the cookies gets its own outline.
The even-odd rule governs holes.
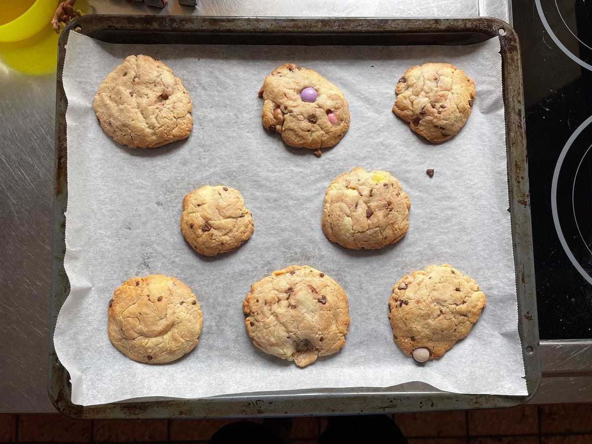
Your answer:
[[[68,108],[66,259],[72,287],[57,320],[57,356],[72,401],[196,398],[242,392],[391,387],[424,381],[445,391],[527,394],[508,188],[501,57],[497,39],[473,46],[126,46],[70,33],[63,70]],[[92,102],[130,54],[163,60],[193,102],[188,140],[131,150],[105,134]],[[391,112],[406,69],[428,61],[461,67],[477,85],[460,133],[434,146]],[[317,70],[345,93],[351,126],[318,159],[261,125],[263,79],[286,62]],[[325,190],[361,165],[397,177],[411,198],[410,228],[395,245],[343,249],[321,230]],[[426,169],[435,169],[433,178]],[[185,242],[182,199],[201,185],[239,189],[255,231],[236,252],[205,258]],[[401,277],[451,263],[474,278],[487,307],[442,359],[417,365],[392,340],[388,299]],[[304,369],[266,355],[244,330],[250,285],[288,265],[310,265],[345,289],[351,325],[340,352]],[[107,304],[126,279],[162,273],[197,295],[197,348],[168,365],[126,358],[107,336]],[[318,391],[318,390],[317,390]]]

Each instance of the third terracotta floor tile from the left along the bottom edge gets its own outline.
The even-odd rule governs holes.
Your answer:
[[[166,441],[166,419],[95,420],[96,442]]]

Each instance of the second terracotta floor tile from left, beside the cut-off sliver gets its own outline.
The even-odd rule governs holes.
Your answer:
[[[88,442],[91,440],[91,421],[72,419],[59,413],[20,414],[18,440],[20,442]]]

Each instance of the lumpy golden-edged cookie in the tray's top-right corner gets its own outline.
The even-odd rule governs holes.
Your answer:
[[[399,79],[392,112],[409,122],[411,131],[440,143],[461,130],[471,115],[475,83],[450,63],[412,66]]]

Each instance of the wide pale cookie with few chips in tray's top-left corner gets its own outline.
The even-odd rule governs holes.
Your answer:
[[[150,56],[129,56],[101,83],[96,117],[105,133],[130,148],[155,148],[191,133],[191,99],[179,78]]]

